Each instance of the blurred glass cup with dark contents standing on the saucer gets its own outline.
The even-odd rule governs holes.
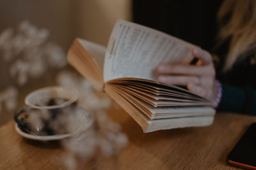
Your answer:
[[[67,133],[68,113],[76,110],[78,93],[59,86],[35,90],[25,97],[24,109],[14,116],[19,128],[39,136]]]

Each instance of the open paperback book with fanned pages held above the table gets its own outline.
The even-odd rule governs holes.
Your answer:
[[[212,103],[186,89],[156,81],[160,63],[189,64],[196,48],[143,25],[117,20],[108,47],[76,39],[68,62],[108,93],[144,132],[212,124]]]

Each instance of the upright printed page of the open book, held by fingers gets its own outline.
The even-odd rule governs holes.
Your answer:
[[[143,25],[118,20],[104,60],[104,81],[116,78],[156,80],[160,63],[188,64],[195,45]]]

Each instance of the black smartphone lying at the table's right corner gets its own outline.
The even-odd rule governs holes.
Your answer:
[[[228,154],[227,162],[244,169],[256,169],[256,122],[250,125]]]

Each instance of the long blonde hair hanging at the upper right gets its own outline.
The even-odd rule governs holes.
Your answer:
[[[221,41],[230,39],[224,71],[256,52],[256,0],[225,0],[217,15]],[[223,23],[225,22],[225,23]]]

